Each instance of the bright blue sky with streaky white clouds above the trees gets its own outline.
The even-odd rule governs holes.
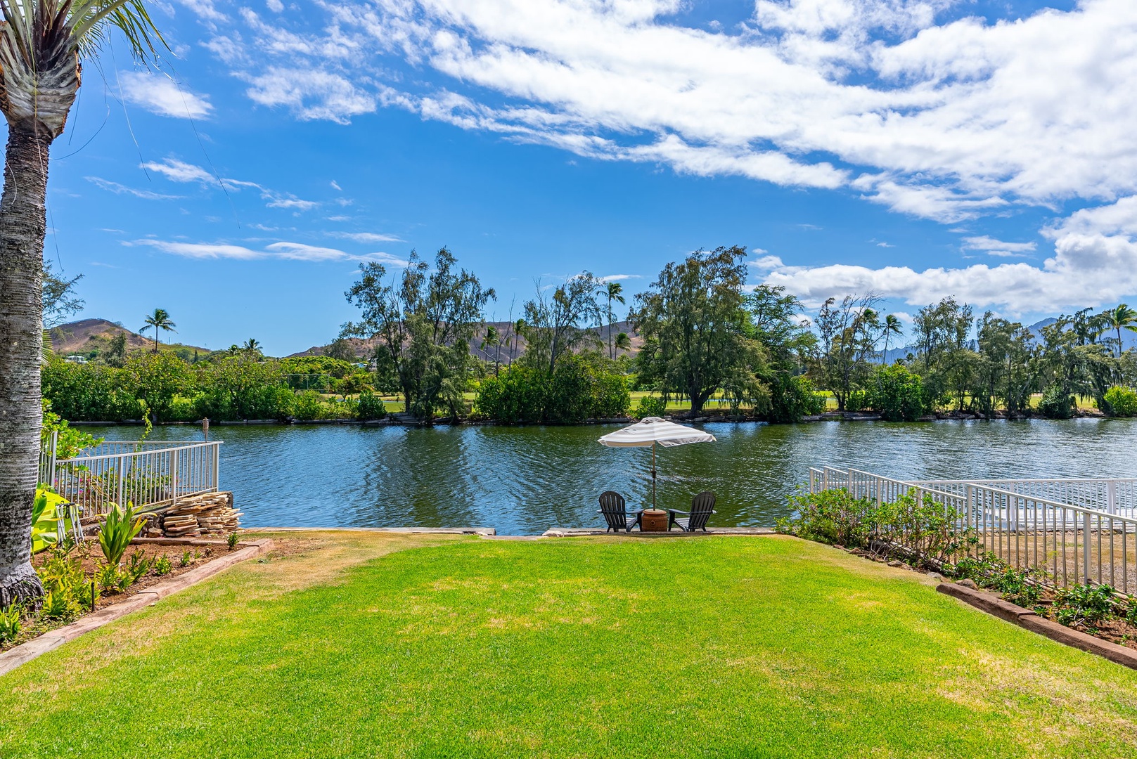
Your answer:
[[[360,260],[448,245],[506,318],[534,280],[752,282],[1032,320],[1137,295],[1137,3],[155,5],[174,55],[84,70],[44,256],[82,316],[282,355]]]

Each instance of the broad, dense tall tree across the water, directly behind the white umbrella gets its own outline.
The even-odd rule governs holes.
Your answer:
[[[719,390],[731,394],[732,404],[769,402],[769,390],[756,377],[764,367],[762,347],[747,334],[745,257],[737,245],[698,250],[682,264],[667,264],[648,292],[637,295],[640,381],[687,395],[694,414]]]

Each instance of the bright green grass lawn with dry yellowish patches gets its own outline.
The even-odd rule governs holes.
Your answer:
[[[0,677],[0,757],[1137,756],[1137,672],[831,548],[299,535]]]

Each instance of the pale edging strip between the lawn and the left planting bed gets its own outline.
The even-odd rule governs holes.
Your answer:
[[[150,541],[165,541],[175,539],[150,539]],[[149,542],[149,541],[148,541]],[[163,543],[163,544],[194,544],[194,541],[179,541],[177,543]],[[197,542],[200,544],[200,542]],[[211,544],[211,543],[207,543]],[[5,675],[22,664],[26,664],[36,657],[47,653],[48,651],[58,649],[64,643],[73,641],[84,633],[89,633],[92,629],[98,629],[106,624],[109,624],[121,617],[125,617],[132,611],[138,611],[143,609],[151,603],[164,599],[167,595],[173,595],[179,591],[183,591],[191,585],[196,585],[204,579],[208,579],[214,575],[230,568],[234,564],[240,564],[246,559],[252,559],[263,553],[267,553],[273,548],[273,541],[264,537],[260,540],[244,541],[244,548],[239,551],[233,551],[226,556],[218,557],[208,564],[205,564],[196,569],[190,569],[184,575],[179,575],[177,577],[171,577],[165,582],[157,583],[147,587],[146,590],[139,591],[138,593],[131,595],[130,598],[119,601],[118,603],[113,603],[108,607],[103,607],[93,614],[89,614],[82,619],[77,619],[69,625],[59,627],[58,629],[52,629],[51,632],[44,633],[39,637],[35,637],[27,643],[22,643],[14,649],[9,649],[3,653],[0,653],[0,675]]]

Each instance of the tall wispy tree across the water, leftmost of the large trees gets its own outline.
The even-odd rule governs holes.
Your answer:
[[[492,289],[466,269],[455,270],[456,260],[442,248],[434,270],[414,251],[399,286],[384,283],[387,269],[366,262],[363,275],[345,293],[363,311],[358,323],[343,325],[340,336],[377,341],[376,364],[397,377],[406,409],[430,419],[435,409],[457,416],[463,393],[479,368],[470,343],[482,324]]]

